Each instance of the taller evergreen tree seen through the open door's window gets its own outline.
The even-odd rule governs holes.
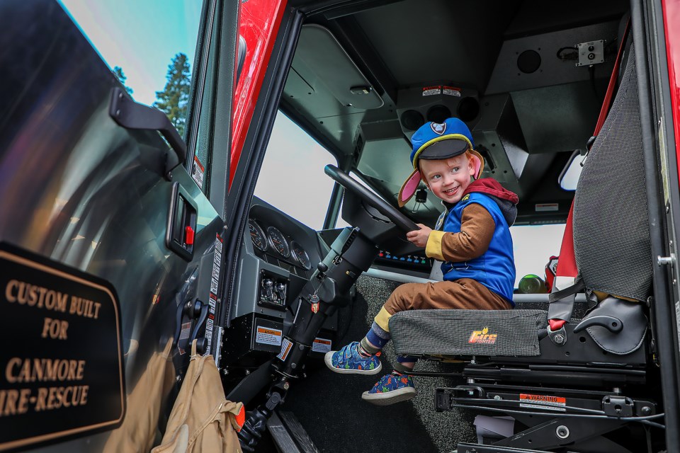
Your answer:
[[[156,92],[154,107],[168,115],[177,132],[184,137],[191,86],[191,70],[186,55],[179,53],[173,57],[166,78],[164,90]]]

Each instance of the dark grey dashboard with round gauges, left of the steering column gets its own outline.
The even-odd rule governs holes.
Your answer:
[[[297,311],[310,306],[300,295],[329,246],[317,231],[253,197],[241,247],[242,278],[229,306],[221,363],[259,367],[281,351]],[[322,359],[337,330],[335,313],[324,319],[310,356]]]

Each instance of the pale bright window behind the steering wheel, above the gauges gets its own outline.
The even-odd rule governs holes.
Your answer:
[[[334,181],[324,166],[336,159],[280,111],[255,195],[312,229],[322,229]]]

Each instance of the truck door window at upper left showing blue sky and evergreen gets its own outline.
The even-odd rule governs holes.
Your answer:
[[[163,110],[186,138],[202,2],[60,1],[130,96]]]

